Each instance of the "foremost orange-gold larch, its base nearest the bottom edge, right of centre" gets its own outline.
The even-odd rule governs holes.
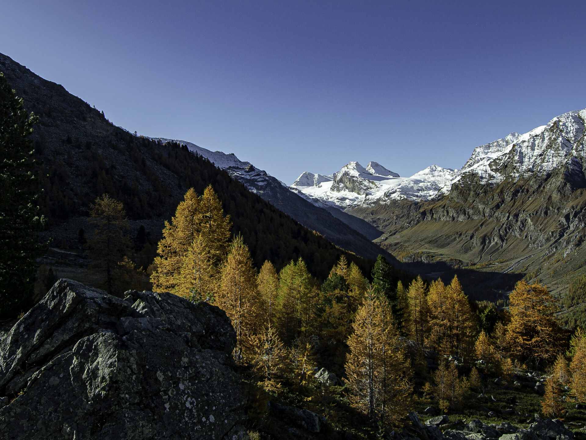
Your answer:
[[[397,426],[411,407],[411,371],[387,300],[367,290],[353,329],[345,365],[350,401],[370,419]]]

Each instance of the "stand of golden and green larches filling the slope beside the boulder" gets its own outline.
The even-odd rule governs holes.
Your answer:
[[[98,205],[97,222],[104,224],[108,212],[124,218],[120,202],[103,198]],[[531,422],[533,416],[503,408],[511,398],[528,413],[584,418],[571,402],[586,400],[586,337],[560,326],[557,300],[538,283],[520,280],[509,307],[498,308],[471,301],[457,277],[448,285],[402,279],[382,257],[370,280],[343,255],[323,282],[303,258],[280,270],[265,260],[258,270],[212,187],[201,195],[189,189],[162,235],[149,274],[119,255],[113,285],[137,288],[132,283],[150,275],[155,292],[226,312],[252,438],[288,438],[269,401],[323,415],[336,432],[357,438],[404,429],[414,409],[486,419],[485,410],[497,416],[481,405],[498,405],[511,421]],[[99,253],[109,254],[104,245]],[[539,387],[524,391],[532,377],[541,378]],[[492,402],[478,401],[488,390]]]

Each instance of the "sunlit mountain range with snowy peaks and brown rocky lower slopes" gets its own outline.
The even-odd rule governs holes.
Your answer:
[[[292,187],[376,226],[377,242],[404,262],[482,266],[495,291],[499,274],[520,273],[561,292],[586,265],[585,120],[586,110],[570,111],[476,147],[460,170],[397,178],[350,163]]]

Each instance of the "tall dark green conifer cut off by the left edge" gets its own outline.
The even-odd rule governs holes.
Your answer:
[[[40,181],[28,139],[37,117],[23,107],[0,73],[0,316],[32,306],[36,259],[47,251],[35,232],[45,219],[36,198]]]

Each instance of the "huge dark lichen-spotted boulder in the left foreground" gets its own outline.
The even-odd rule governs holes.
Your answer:
[[[0,333],[0,439],[240,439],[226,314],[59,280]]]

